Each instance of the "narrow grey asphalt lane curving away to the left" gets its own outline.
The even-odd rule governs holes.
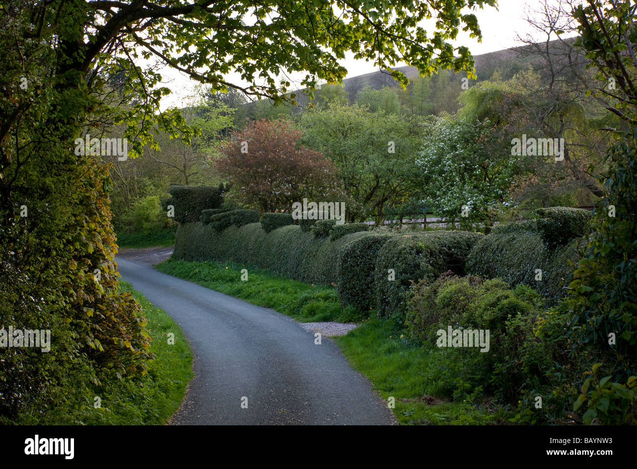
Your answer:
[[[396,423],[330,339],[316,345],[313,334],[273,309],[149,265],[117,264],[122,278],[179,323],[194,352],[196,376],[172,424]]]

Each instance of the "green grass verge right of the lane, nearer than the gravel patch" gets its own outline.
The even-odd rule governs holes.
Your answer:
[[[441,393],[432,376],[446,366],[438,350],[403,337],[387,320],[371,318],[335,341],[385,401],[394,397],[401,424],[510,424],[507,406],[489,398],[452,401]]]

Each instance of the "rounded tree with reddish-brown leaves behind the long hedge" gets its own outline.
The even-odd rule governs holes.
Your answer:
[[[299,144],[301,135],[283,119],[262,119],[234,132],[215,160],[233,184],[231,197],[261,212],[290,211],[303,198],[344,202],[333,163]]]

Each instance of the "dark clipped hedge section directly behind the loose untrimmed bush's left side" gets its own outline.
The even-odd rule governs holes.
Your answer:
[[[381,314],[403,313],[413,283],[443,272],[464,274],[471,248],[484,235],[464,231],[433,231],[397,235],[383,244],[376,257],[374,290]],[[394,279],[390,279],[393,269]]]

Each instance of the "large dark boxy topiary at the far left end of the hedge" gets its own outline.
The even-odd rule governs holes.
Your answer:
[[[172,196],[162,200],[162,209],[168,205],[175,207],[175,220],[179,223],[199,221],[204,209],[218,209],[224,201],[223,192],[213,186],[183,186],[173,184],[168,188]]]

